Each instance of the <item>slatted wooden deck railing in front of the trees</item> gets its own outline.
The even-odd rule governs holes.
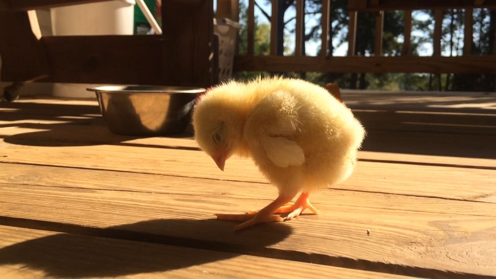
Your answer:
[[[227,1],[227,0],[226,0]],[[268,72],[428,72],[428,73],[488,73],[496,72],[496,56],[472,55],[472,28],[465,28],[463,56],[441,56],[442,10],[465,8],[466,26],[473,25],[473,8],[496,8],[496,0],[349,0],[348,55],[333,57],[328,54],[330,30],[330,0],[322,0],[322,51],[316,57],[304,56],[302,44],[304,34],[304,0],[295,0],[296,29],[295,53],[293,56],[276,54],[277,1],[272,0],[270,55],[254,54],[254,0],[248,1],[248,53],[235,57],[236,71]],[[382,56],[383,25],[385,10],[405,10],[404,43],[401,56]],[[430,57],[411,55],[412,9],[434,9],[434,53]],[[359,11],[375,12],[374,56],[356,56],[357,18]]]

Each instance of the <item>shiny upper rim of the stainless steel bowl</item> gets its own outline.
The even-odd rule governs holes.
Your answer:
[[[129,87],[138,87],[138,89],[125,89]],[[93,91],[95,93],[203,93],[206,91],[205,88],[201,87],[186,87],[186,86],[160,86],[160,85],[104,85],[86,88],[88,91]]]

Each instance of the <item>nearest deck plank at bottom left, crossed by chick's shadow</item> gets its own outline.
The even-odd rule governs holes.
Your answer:
[[[125,230],[126,225],[115,229]],[[235,253],[2,225],[0,225],[0,234],[3,236],[0,239],[0,273],[8,274],[10,279],[83,276],[91,278],[204,278],[205,276],[215,278],[262,276],[280,279],[292,276],[322,279],[408,278]],[[125,238],[124,234],[116,236]],[[281,269],[282,266],[285,268]]]

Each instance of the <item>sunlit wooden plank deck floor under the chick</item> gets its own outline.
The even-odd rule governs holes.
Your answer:
[[[213,214],[277,194],[251,161],[112,135],[93,100],[0,103],[0,277],[495,278],[495,94],[343,98],[369,132],[353,176],[239,233]]]

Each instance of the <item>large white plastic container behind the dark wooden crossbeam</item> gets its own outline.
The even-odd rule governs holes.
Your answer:
[[[55,36],[132,35],[134,0],[114,0],[70,5],[51,9],[52,31]],[[86,88],[97,84],[54,83],[53,95],[58,97],[94,98]]]

